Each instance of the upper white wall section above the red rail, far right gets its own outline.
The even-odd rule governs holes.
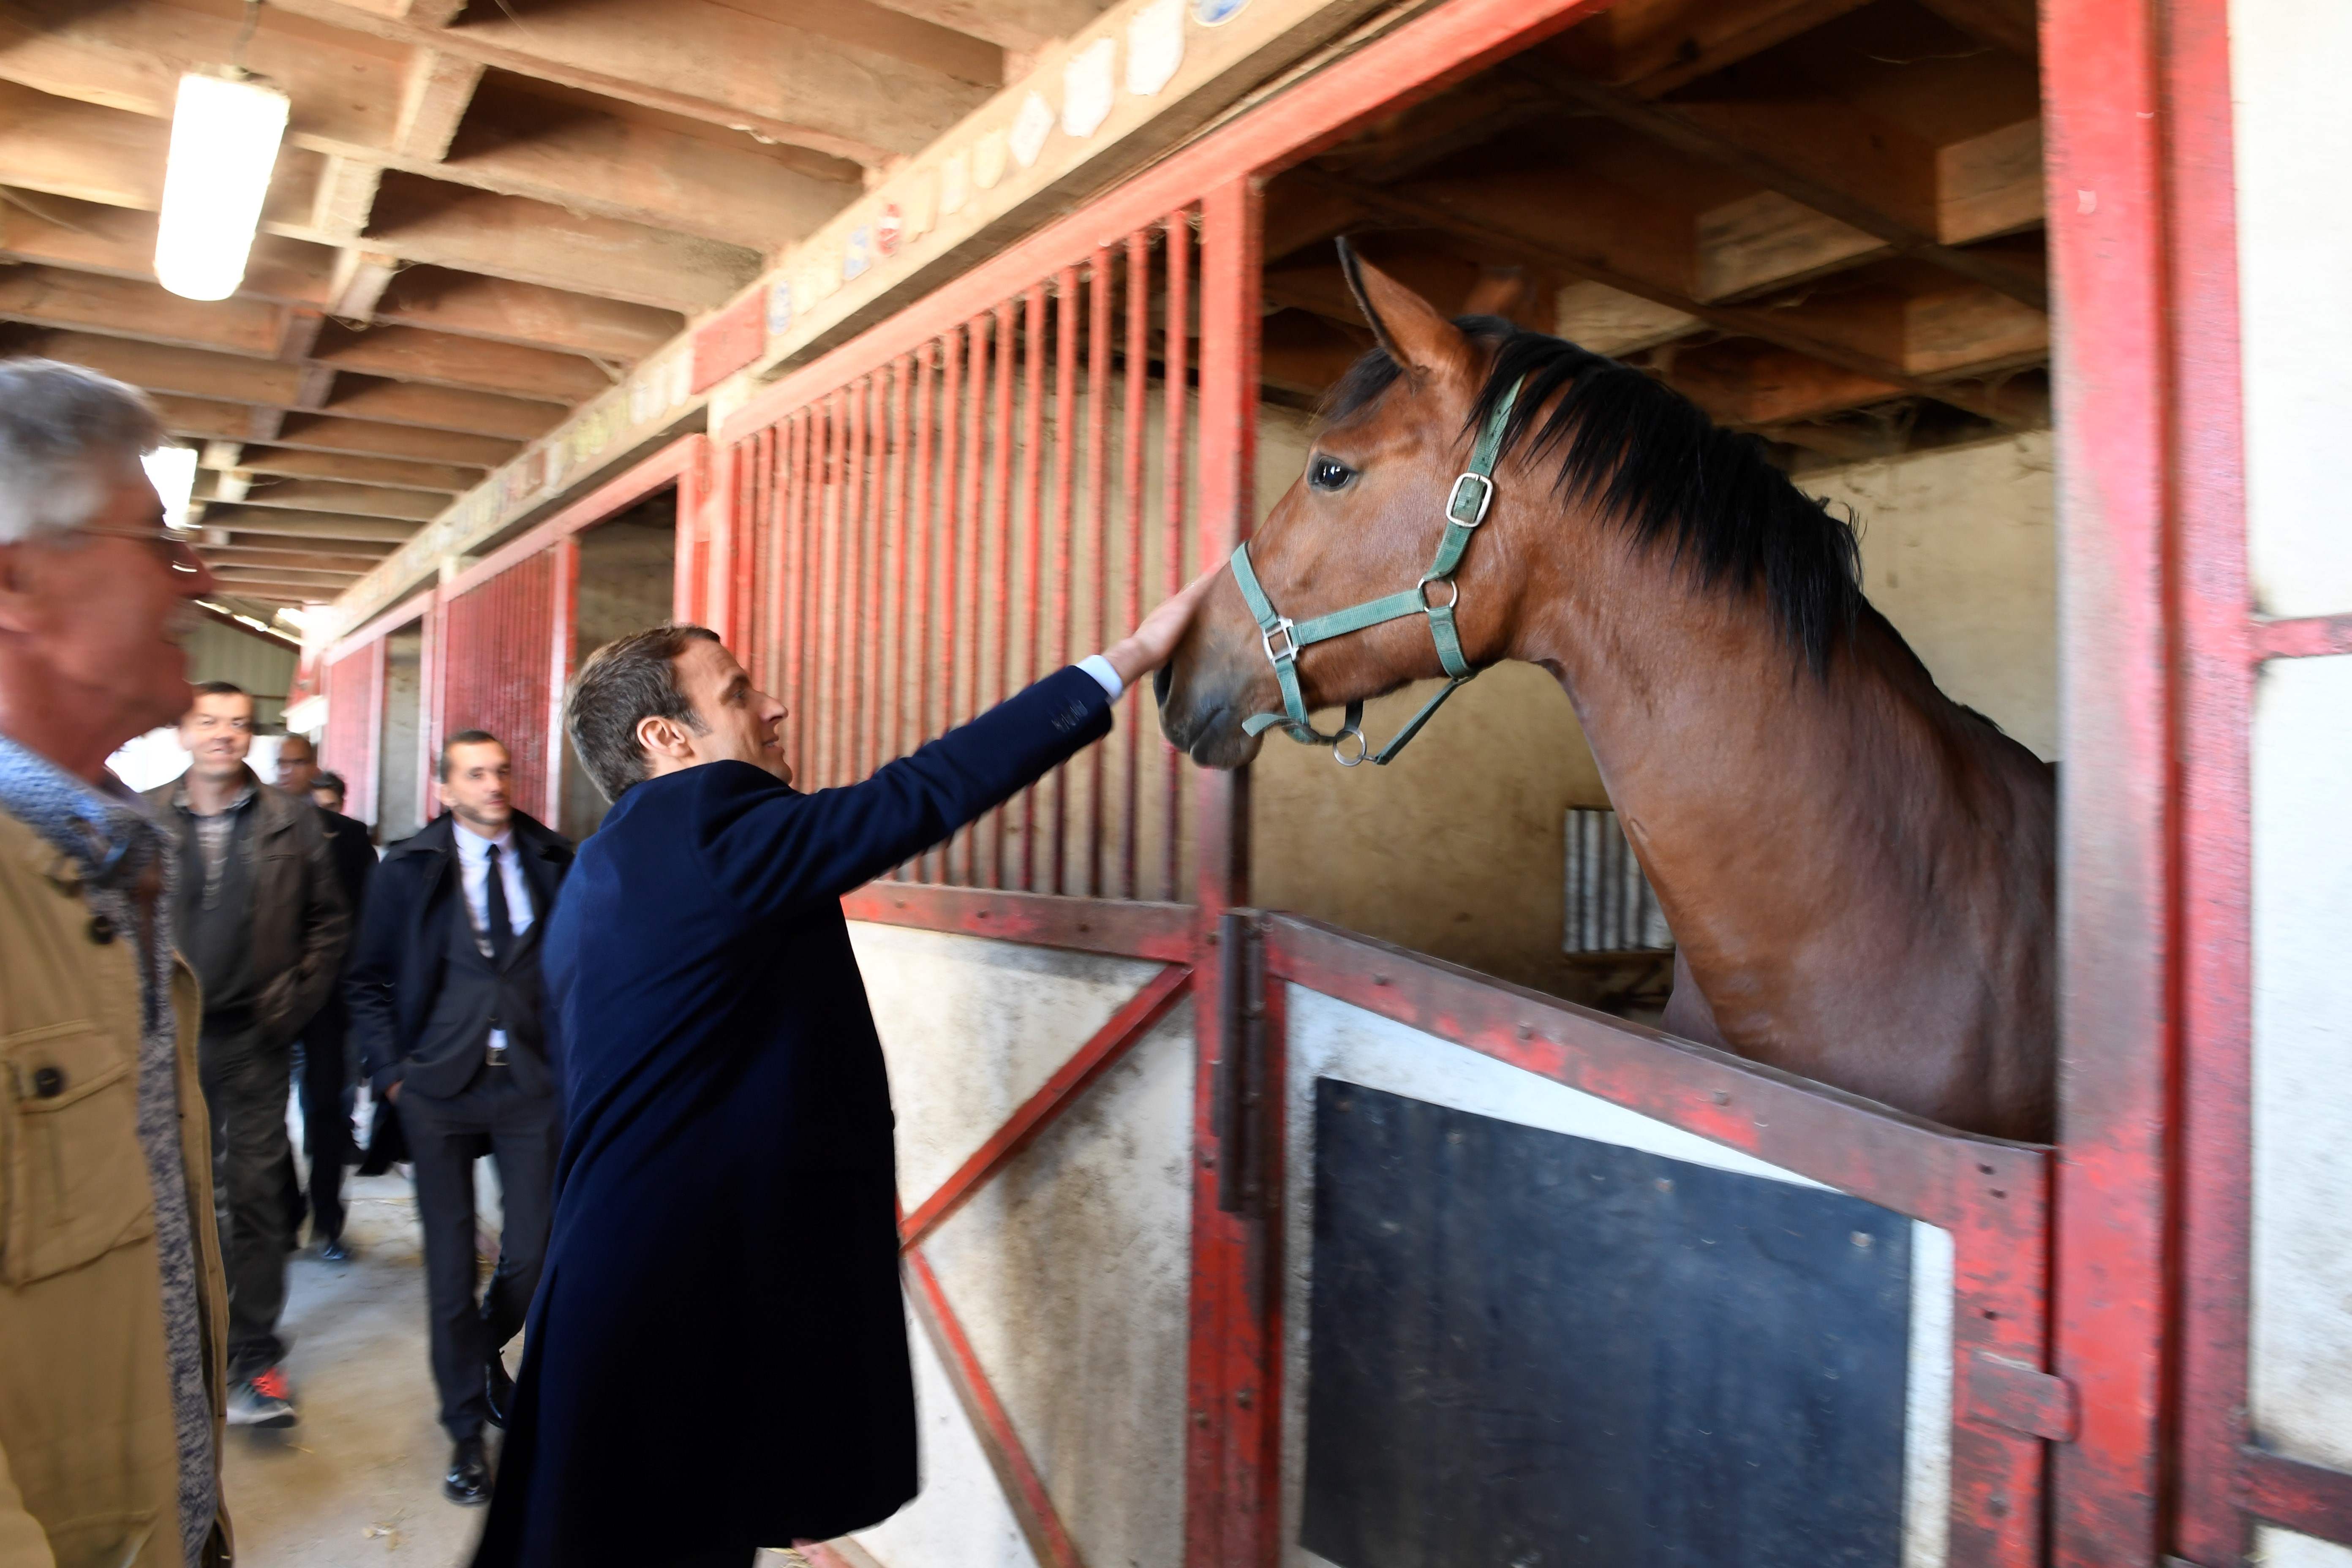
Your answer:
[[[2352,609],[2347,71],[2340,0],[2230,2],[2249,564],[2272,616]]]

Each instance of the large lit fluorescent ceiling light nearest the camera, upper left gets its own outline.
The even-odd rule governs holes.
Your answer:
[[[193,71],[179,78],[155,282],[183,299],[238,292],[285,134],[287,94],[275,87]]]

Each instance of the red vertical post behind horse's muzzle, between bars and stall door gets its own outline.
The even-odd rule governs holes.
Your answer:
[[[1258,423],[1258,193],[1235,179],[1202,202],[1200,299],[1200,541],[1197,562],[1223,559],[1256,510],[1254,444]],[[1183,235],[1171,228],[1169,247]],[[1169,263],[1171,277],[1176,263]],[[1185,313],[1169,289],[1171,343]],[[1169,350],[1169,465],[1183,395],[1181,360]],[[1185,574],[1178,512],[1169,508],[1167,562]],[[1171,806],[1171,830],[1174,818]],[[1216,773],[1195,788],[1200,865],[1192,896],[1202,936],[1232,903],[1247,900],[1247,776]],[[1216,964],[1240,954],[1207,950]],[[1197,973],[1211,973],[1202,964]],[[1282,990],[1265,997],[1268,1084],[1282,1084]],[[1192,1161],[1192,1338],[1185,1427],[1185,1561],[1192,1568],[1272,1568],[1282,1561],[1282,1178],[1279,1138],[1265,1173],[1268,1201],[1256,1213],[1218,1206],[1216,1124],[1209,1119],[1218,1067],[1240,1070],[1223,1037],[1223,1009],[1195,1001],[1195,1150]],[[1279,1100],[1279,1095],[1275,1095]],[[1270,1114],[1279,1126],[1279,1110]]]

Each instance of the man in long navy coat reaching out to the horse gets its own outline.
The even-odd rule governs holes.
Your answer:
[[[581,668],[572,743],[614,809],[546,931],[569,1124],[475,1568],[748,1568],[915,1495],[889,1081],[840,898],[1110,733],[1211,576],[816,795],[710,632]]]

